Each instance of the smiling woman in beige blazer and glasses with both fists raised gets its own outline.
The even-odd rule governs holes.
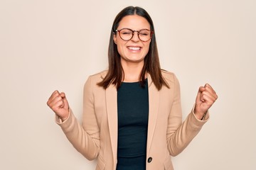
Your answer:
[[[198,134],[218,96],[201,86],[181,123],[178,80],[160,68],[154,25],[143,8],[117,15],[108,55],[109,69],[85,83],[82,125],[65,94],[53,92],[47,104],[57,123],[78,152],[97,158],[96,169],[173,169],[171,156]]]

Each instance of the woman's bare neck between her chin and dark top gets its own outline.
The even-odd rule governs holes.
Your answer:
[[[124,69],[124,82],[136,82],[140,81],[140,75],[144,62],[132,63],[123,62],[122,68]]]

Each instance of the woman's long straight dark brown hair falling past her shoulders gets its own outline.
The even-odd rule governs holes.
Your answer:
[[[144,8],[140,8],[138,6],[128,6],[117,14],[116,18],[114,19],[114,23],[112,25],[112,30],[110,33],[110,45],[108,49],[109,69],[106,77],[100,83],[98,83],[98,85],[102,86],[104,89],[107,89],[110,84],[115,84],[118,89],[119,86],[121,86],[122,84],[122,81],[124,79],[124,70],[122,69],[120,55],[117,51],[117,45],[114,43],[113,40],[114,34],[116,34],[114,30],[117,30],[119,22],[122,20],[122,18],[124,18],[124,16],[132,16],[135,14],[146,18],[146,20],[149,22],[150,29],[154,31],[153,21],[149,16],[149,13],[147,13]],[[150,74],[151,79],[156,86],[156,89],[160,90],[163,85],[169,88],[169,85],[166,83],[161,75],[161,67],[159,62],[159,54],[156,46],[155,33],[152,35],[151,38],[149,52],[144,58],[144,67],[142,68],[142,72],[140,75],[140,83],[142,84],[142,86],[144,86],[145,74],[147,72]]]

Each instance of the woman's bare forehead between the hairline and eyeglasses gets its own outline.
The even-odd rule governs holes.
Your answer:
[[[149,29],[150,25],[146,18],[138,15],[124,16],[119,22],[118,29],[131,28],[132,30]]]

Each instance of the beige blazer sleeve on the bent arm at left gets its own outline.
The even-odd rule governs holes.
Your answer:
[[[71,109],[67,120],[61,123],[56,118],[56,122],[78,152],[89,160],[97,158],[100,151],[100,129],[94,112],[94,98],[90,77],[84,86],[82,125],[75,118]]]

